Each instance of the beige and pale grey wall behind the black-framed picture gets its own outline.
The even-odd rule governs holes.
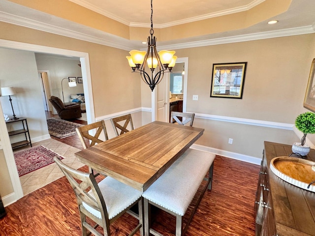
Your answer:
[[[303,108],[315,34],[176,50],[189,58],[187,111],[293,124]],[[243,99],[210,97],[213,63],[247,61]],[[199,95],[198,101],[192,95]],[[205,128],[196,144],[261,157],[263,141],[298,142],[293,131],[196,119]],[[312,135],[309,138],[312,139]],[[228,139],[233,138],[232,145]]]

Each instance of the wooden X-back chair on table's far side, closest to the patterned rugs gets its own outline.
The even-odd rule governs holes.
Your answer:
[[[89,133],[89,131],[93,129],[96,129],[94,136]],[[81,143],[84,149],[90,148],[94,146],[95,144],[99,144],[103,141],[108,140],[108,135],[107,135],[107,130],[106,130],[104,120],[100,120],[92,124],[87,124],[84,126],[77,127],[75,130],[77,131],[79,135],[79,138],[81,140]],[[98,138],[101,133],[104,133],[105,140],[101,140]],[[92,173],[94,177],[97,177],[99,175],[99,173],[94,174],[94,170],[91,167],[89,167],[89,172]]]

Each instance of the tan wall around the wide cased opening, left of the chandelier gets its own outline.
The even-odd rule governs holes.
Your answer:
[[[140,80],[130,73],[127,51],[3,22],[0,28],[1,39],[89,53],[96,117],[141,107]]]

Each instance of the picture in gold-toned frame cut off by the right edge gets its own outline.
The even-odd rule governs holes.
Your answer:
[[[309,82],[304,97],[303,107],[315,112],[315,59],[312,61]]]

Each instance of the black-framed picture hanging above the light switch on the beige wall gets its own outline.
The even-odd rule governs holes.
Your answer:
[[[213,64],[210,97],[243,96],[247,62]]]

